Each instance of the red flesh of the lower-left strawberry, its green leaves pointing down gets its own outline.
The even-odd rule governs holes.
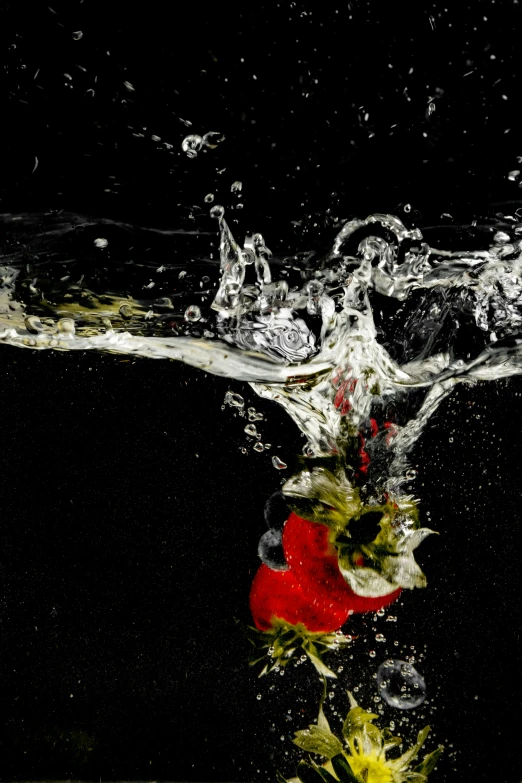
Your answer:
[[[273,571],[262,565],[250,591],[250,609],[260,631],[273,627],[274,618],[292,625],[302,623],[309,631],[336,631],[348,618],[348,606],[322,593],[303,588],[292,571]]]

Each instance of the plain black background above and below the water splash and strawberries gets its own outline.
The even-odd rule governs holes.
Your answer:
[[[420,227],[513,214],[520,5],[323,5],[3,3],[2,211],[209,231],[205,194],[231,207],[237,179],[230,222],[276,252],[328,244],[327,210]],[[188,160],[183,137],[210,130],[226,140]],[[241,453],[244,422],[221,411],[230,384],[12,348],[2,377],[2,778],[293,774],[288,738],[320,685],[305,665],[277,681],[246,665],[262,508],[281,475]],[[232,388],[291,464],[293,426]],[[463,388],[434,417],[413,455],[441,533],[419,552],[430,586],[404,596],[396,624],[379,620],[375,659],[377,625],[354,621],[333,700],[345,711],[357,683],[370,706],[380,658],[415,647],[429,698],[412,731],[429,721],[447,747],[434,780],[522,776],[520,389]]]

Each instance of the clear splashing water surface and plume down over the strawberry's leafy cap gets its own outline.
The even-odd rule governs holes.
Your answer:
[[[305,435],[283,491],[332,528],[352,589],[422,586],[413,550],[431,531],[405,491],[408,454],[457,383],[521,371],[522,227],[486,242],[477,228],[477,249],[441,250],[376,214],[346,222],[322,256],[274,258],[261,234],[241,247],[224,208],[210,212],[219,264],[200,253],[190,272],[183,254],[147,256],[152,232],[3,216],[0,341],[176,359],[250,383]],[[123,257],[110,255],[115,231],[132,239]]]

